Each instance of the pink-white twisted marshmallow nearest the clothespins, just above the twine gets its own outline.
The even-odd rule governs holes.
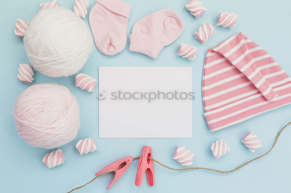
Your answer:
[[[181,165],[192,165],[194,153],[190,150],[186,150],[185,147],[177,146],[173,154],[173,159],[178,161]]]

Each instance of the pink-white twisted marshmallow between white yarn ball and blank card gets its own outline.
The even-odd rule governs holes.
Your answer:
[[[82,90],[87,90],[88,92],[93,92],[96,86],[97,80],[89,77],[87,74],[77,74],[76,76],[76,86]]]

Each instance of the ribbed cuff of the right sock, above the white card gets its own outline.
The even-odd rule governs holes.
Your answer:
[[[160,51],[164,48],[160,42],[147,36],[131,34],[129,39],[130,51],[143,53],[151,58],[157,58]]]

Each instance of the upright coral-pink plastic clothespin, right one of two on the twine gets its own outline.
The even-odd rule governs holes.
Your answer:
[[[146,172],[148,185],[155,185],[155,171],[154,162],[148,157],[152,158],[152,147],[143,146],[141,150],[141,157],[139,158],[139,165],[137,166],[135,185],[140,186],[143,183],[143,176]]]

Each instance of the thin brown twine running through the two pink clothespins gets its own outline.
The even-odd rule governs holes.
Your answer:
[[[233,169],[233,170],[229,170],[229,171],[214,170],[214,169],[211,169],[211,168],[205,168],[205,167],[190,167],[190,168],[185,168],[185,169],[174,169],[174,168],[171,168],[171,167],[168,167],[168,166],[162,164],[161,162],[159,162],[159,161],[157,161],[157,160],[155,160],[155,159],[153,159],[153,158],[148,157],[148,159],[150,159],[150,160],[152,160],[152,161],[158,163],[159,165],[162,165],[163,167],[166,167],[166,168],[168,168],[168,169],[170,169],[170,170],[184,171],[184,170],[197,170],[197,169],[201,169],[201,170],[210,170],[210,171],[213,171],[213,172],[219,172],[219,173],[223,173],[223,174],[224,174],[224,173],[230,173],[230,172],[234,172],[234,171],[236,171],[236,170],[239,170],[240,168],[244,167],[246,164],[248,164],[248,163],[250,163],[250,162],[252,162],[252,161],[255,161],[256,159],[259,159],[259,158],[261,158],[261,157],[267,155],[269,152],[271,152],[272,149],[274,148],[275,144],[277,143],[278,138],[279,138],[279,136],[281,135],[281,132],[282,132],[282,131],[283,131],[283,130],[288,126],[288,125],[290,125],[290,124],[291,124],[291,122],[289,122],[287,125],[285,125],[285,126],[284,126],[284,127],[283,127],[279,132],[278,132],[278,134],[277,134],[277,136],[276,136],[276,139],[275,139],[275,141],[274,141],[274,143],[273,143],[271,149],[269,149],[269,151],[267,151],[266,153],[264,153],[264,154],[262,154],[262,155],[260,155],[260,156],[258,156],[258,157],[256,157],[256,158],[254,158],[254,159],[252,159],[252,160],[250,160],[250,161],[248,161],[248,162],[246,162],[246,163],[244,163],[244,164],[242,164],[242,165],[236,167],[235,169]],[[140,157],[135,157],[135,158],[133,158],[133,161],[134,161],[134,160],[137,160],[137,159],[139,159],[139,158],[140,158]],[[123,166],[124,166],[124,165],[120,165],[120,166],[118,166],[117,168],[115,168],[115,169],[113,169],[113,170],[107,170],[107,171],[103,172],[102,174],[106,174],[106,173],[109,173],[109,172],[113,172],[114,170],[118,170],[119,168],[121,168],[121,167],[123,167]],[[84,184],[84,185],[82,185],[82,186],[79,186],[79,187],[77,187],[77,188],[74,188],[74,189],[71,190],[70,192],[73,192],[74,190],[78,190],[79,188],[84,187],[84,186],[86,186],[87,184],[90,184],[91,182],[93,182],[94,180],[96,180],[98,177],[100,177],[102,174],[96,176],[96,177],[93,178],[90,182],[87,182],[86,184]],[[67,193],[70,193],[70,192],[67,192]]]

